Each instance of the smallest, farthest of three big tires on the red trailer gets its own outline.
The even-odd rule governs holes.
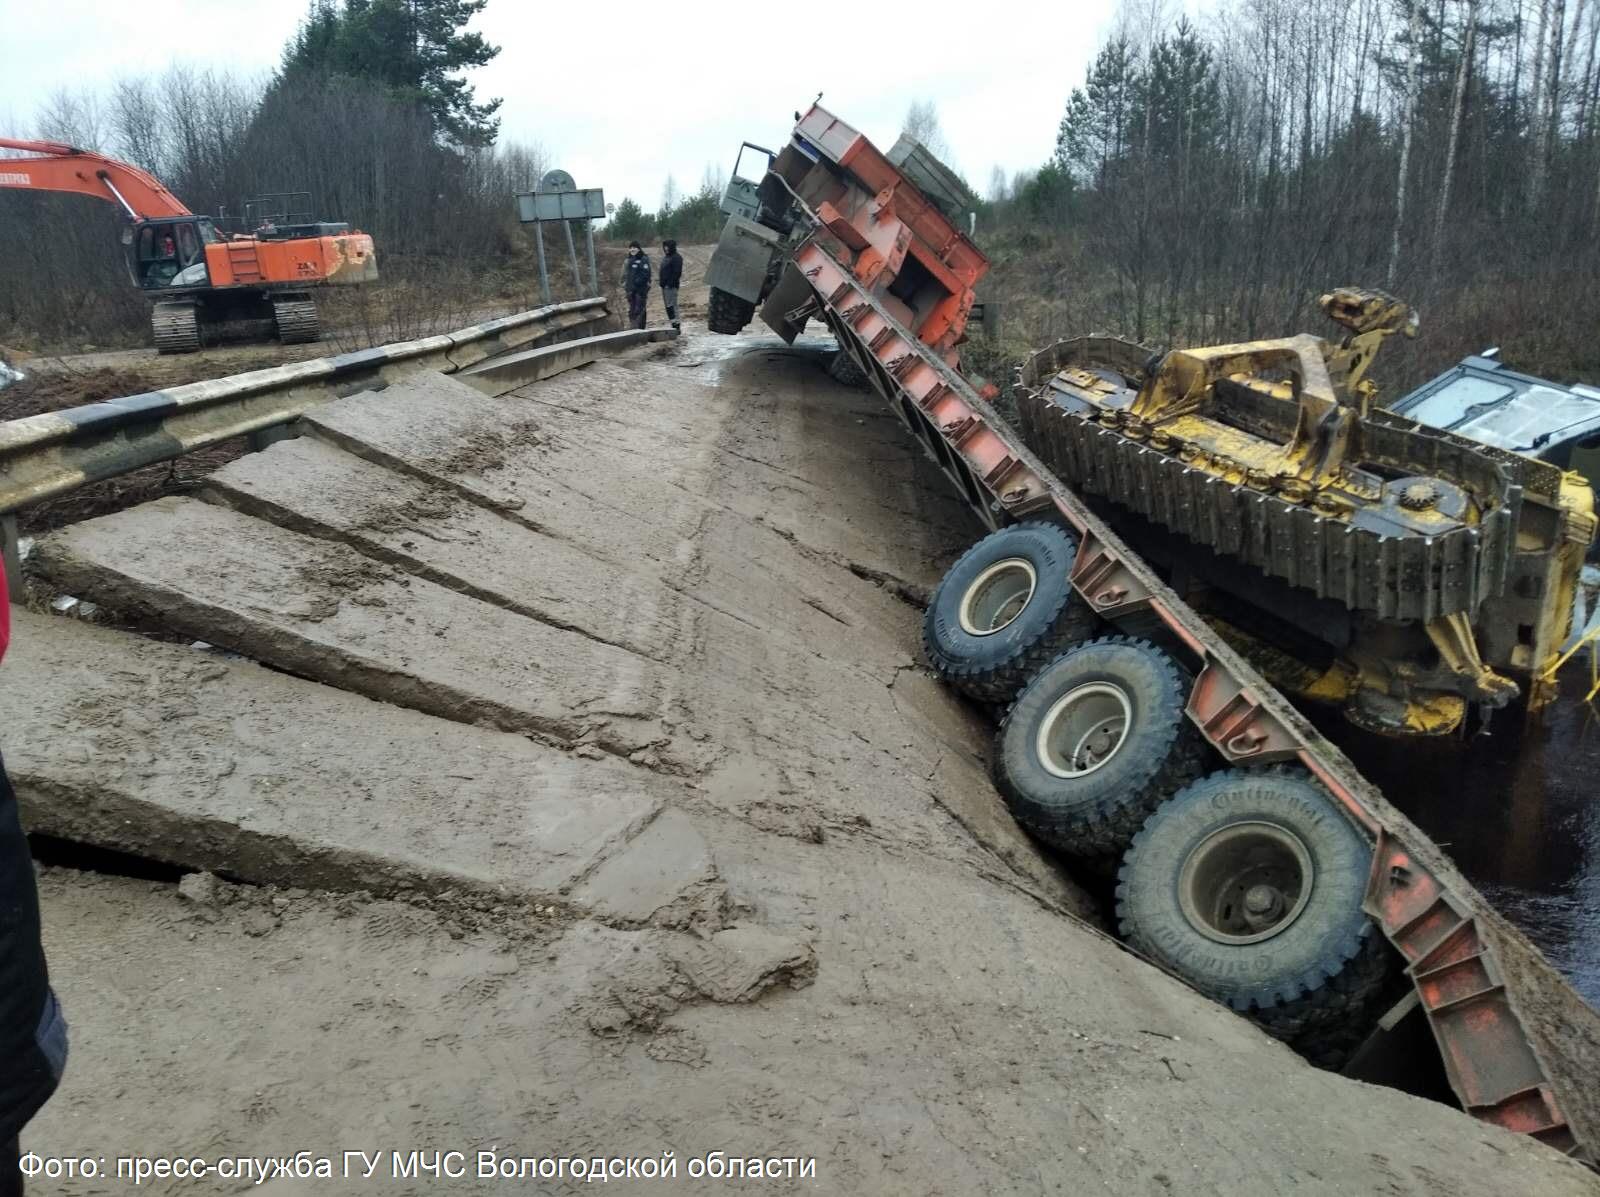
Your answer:
[[[922,621],[928,663],[981,703],[1010,703],[1042,664],[1094,635],[1067,581],[1078,539],[1056,523],[990,533],[950,566]]]

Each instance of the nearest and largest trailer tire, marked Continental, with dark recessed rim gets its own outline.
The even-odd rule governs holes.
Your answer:
[[[1141,952],[1317,1058],[1350,1037],[1394,967],[1362,911],[1371,866],[1373,845],[1306,773],[1213,773],[1134,837],[1117,922]]]

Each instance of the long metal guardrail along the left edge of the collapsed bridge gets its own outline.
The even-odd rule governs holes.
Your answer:
[[[603,298],[245,374],[186,382],[0,424],[0,549],[19,576],[16,512],[234,437],[298,419],[330,397],[378,390],[418,370],[458,373],[606,315]]]

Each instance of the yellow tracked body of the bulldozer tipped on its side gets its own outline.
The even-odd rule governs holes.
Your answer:
[[[1387,733],[1542,706],[1594,493],[1378,408],[1366,370],[1414,312],[1355,288],[1322,306],[1338,342],[1058,342],[1022,371],[1024,437],[1278,685]]]

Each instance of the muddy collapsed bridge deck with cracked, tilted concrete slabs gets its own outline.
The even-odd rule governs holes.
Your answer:
[[[690,325],[502,398],[418,378],[42,538],[42,589],[118,624],[16,613],[27,818],[186,877],[45,869],[75,1043],[24,1149],[459,1151],[461,1192],[515,1184],[478,1151],[669,1152],[648,1192],[1600,1192],[1096,930],[920,664],[981,530],[830,349]],[[707,1152],[816,1176],[691,1179]]]

